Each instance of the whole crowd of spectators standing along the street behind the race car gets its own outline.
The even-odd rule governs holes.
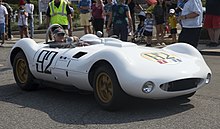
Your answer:
[[[30,0],[20,0],[18,11],[18,28],[20,38],[34,37],[34,5]],[[206,15],[203,26],[203,7],[201,0],[79,0],[77,8],[80,13],[80,24],[84,33],[97,34],[98,31],[108,36],[116,35],[122,41],[132,36],[152,46],[153,31],[156,34],[156,45],[166,45],[164,37],[172,38],[172,43],[186,42],[195,48],[198,46],[202,27],[208,30],[210,43],[207,46],[218,46],[220,35],[220,2],[206,0]],[[0,0],[0,33],[2,43],[5,37],[11,38],[11,13],[13,10]],[[47,27],[59,24],[72,36],[73,7],[68,0],[51,0],[46,11]],[[138,23],[136,26],[135,23]],[[177,25],[181,32],[178,34]],[[153,28],[156,29],[153,29]],[[106,31],[104,31],[106,29]],[[55,30],[55,28],[53,29]],[[7,35],[7,36],[5,36]],[[192,36],[193,35],[193,36]],[[146,38],[146,40],[145,40]]]

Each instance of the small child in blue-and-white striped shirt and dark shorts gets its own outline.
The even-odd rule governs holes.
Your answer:
[[[146,13],[146,19],[144,20],[144,33],[143,35],[147,37],[146,46],[151,46],[152,35],[153,35],[153,15],[149,12]]]

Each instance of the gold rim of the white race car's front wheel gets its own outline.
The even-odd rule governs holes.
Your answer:
[[[112,80],[106,73],[100,73],[96,79],[96,92],[99,99],[108,103],[112,99],[113,95],[113,84]]]

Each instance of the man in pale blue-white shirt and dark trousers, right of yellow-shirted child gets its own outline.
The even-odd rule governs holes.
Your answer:
[[[202,29],[203,10],[201,0],[188,0],[179,16],[182,31],[178,42],[189,43],[197,48]]]

